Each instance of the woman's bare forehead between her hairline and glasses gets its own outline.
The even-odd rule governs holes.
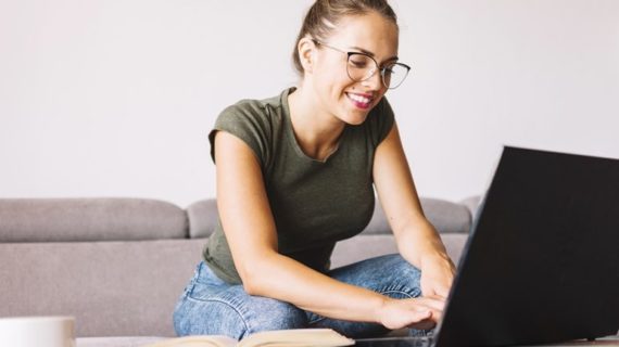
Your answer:
[[[361,48],[380,59],[397,55],[397,27],[393,22],[370,12],[343,17],[329,37],[329,42],[341,48]]]

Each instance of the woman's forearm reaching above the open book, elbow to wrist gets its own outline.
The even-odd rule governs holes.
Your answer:
[[[289,257],[271,254],[243,279],[252,295],[271,297],[333,319],[380,323],[388,299],[372,291],[342,283]]]

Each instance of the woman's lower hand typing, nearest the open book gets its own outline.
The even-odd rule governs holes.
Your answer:
[[[444,307],[445,299],[439,296],[406,299],[387,297],[379,313],[379,322],[389,330],[429,330],[441,320]]]

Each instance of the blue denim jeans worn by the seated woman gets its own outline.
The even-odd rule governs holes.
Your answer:
[[[371,258],[327,272],[341,282],[393,298],[419,296],[420,274],[400,255]],[[241,339],[260,331],[301,327],[330,327],[352,338],[389,332],[380,324],[330,319],[277,299],[248,295],[242,285],[222,281],[204,262],[198,265],[174,310],[174,329],[179,336],[209,334]]]

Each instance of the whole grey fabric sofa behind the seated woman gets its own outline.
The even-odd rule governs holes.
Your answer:
[[[422,198],[456,264],[478,201]],[[214,200],[184,209],[142,198],[2,198],[0,317],[74,316],[79,347],[174,336],[174,305],[216,220]],[[377,204],[332,266],[395,252]]]

